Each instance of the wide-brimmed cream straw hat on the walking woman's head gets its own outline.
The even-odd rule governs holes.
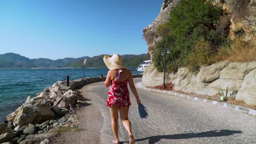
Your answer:
[[[119,54],[113,54],[113,56],[105,55],[103,60],[110,70],[126,68],[122,66],[123,58]]]

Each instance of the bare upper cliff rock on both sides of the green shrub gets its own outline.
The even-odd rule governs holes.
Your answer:
[[[210,0],[212,4],[223,8],[224,13],[230,15],[230,38],[234,38],[234,31],[242,29],[246,40],[256,36],[256,0]],[[164,0],[160,14],[154,22],[149,24],[143,30],[144,38],[148,44],[148,52],[154,54],[156,41],[161,37],[156,34],[156,28],[159,24],[166,22],[169,18],[170,11],[178,5],[180,0]]]

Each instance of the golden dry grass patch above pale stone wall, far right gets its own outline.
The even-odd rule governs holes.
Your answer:
[[[235,38],[230,48],[219,50],[217,58],[229,60],[230,62],[252,62],[256,60],[256,38],[250,41],[243,41],[241,38]]]

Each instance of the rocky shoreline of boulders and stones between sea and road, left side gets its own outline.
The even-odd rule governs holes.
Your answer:
[[[133,74],[134,78],[143,74]],[[27,144],[49,141],[52,132],[61,128],[76,128],[76,111],[83,107],[84,97],[75,89],[81,86],[102,82],[106,77],[92,77],[57,81],[46,87],[36,97],[28,96],[26,102],[0,122],[0,143],[12,142]]]

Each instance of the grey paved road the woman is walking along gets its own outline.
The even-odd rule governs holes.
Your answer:
[[[134,82],[141,82],[141,78],[135,78]],[[97,124],[101,126],[98,128],[100,140],[95,144],[112,144],[110,112],[105,106],[108,88],[103,82],[86,87],[90,106],[94,106],[94,112],[101,113],[102,120],[98,122],[103,122]],[[136,144],[256,144],[256,116],[141,88],[137,90],[149,117],[139,117],[136,99],[130,91],[129,118]],[[128,134],[121,122],[119,128],[120,141],[128,144]]]

